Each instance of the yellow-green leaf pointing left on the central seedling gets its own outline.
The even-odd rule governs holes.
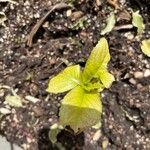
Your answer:
[[[47,91],[51,93],[61,93],[80,84],[80,66],[67,67],[63,72],[49,81]]]

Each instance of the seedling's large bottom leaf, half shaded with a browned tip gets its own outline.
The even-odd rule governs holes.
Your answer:
[[[98,92],[87,92],[77,86],[63,99],[60,108],[60,124],[69,125],[74,132],[97,124],[102,113]]]

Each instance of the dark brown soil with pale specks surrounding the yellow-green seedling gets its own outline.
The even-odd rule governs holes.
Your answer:
[[[111,53],[109,70],[116,81],[102,94],[101,129],[88,129],[79,135],[62,131],[58,141],[61,148],[68,150],[150,149],[150,59],[140,50],[140,41],[150,37],[150,2],[120,0],[122,10],[115,10],[106,1],[70,0],[73,8],[52,13],[38,30],[32,47],[27,46],[26,38],[33,26],[58,2],[0,2],[0,11],[7,17],[5,26],[0,26],[0,84],[17,90],[25,100],[23,108],[8,106],[4,97],[10,91],[0,90],[0,108],[10,111],[0,115],[0,133],[23,149],[58,149],[58,145],[52,147],[48,131],[58,120],[64,94],[48,95],[45,89],[49,77],[70,63],[84,66],[108,15],[115,11],[116,26],[131,24],[133,9],[140,10],[144,18],[146,28],[142,36],[136,36],[136,29],[112,30],[105,36]],[[81,17],[84,21],[79,27],[76,23]],[[27,100],[28,95],[38,101]]]

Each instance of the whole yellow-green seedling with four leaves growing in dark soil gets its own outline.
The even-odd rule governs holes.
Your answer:
[[[109,61],[107,40],[101,38],[83,71],[79,65],[69,66],[49,81],[48,92],[69,91],[61,102],[61,125],[70,126],[77,133],[99,123],[102,113],[100,92],[114,81],[114,76],[107,70]]]

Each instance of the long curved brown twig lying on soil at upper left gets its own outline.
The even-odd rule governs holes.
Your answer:
[[[70,8],[70,5],[67,5],[65,3],[59,3],[54,5],[45,15],[44,17],[41,18],[41,20],[39,22],[36,23],[36,25],[32,28],[30,34],[28,35],[27,38],[27,45],[29,47],[32,46],[33,43],[33,37],[34,35],[37,33],[37,31],[39,30],[39,28],[43,25],[43,23],[45,22],[45,20],[47,19],[47,17],[55,10],[60,10],[60,9],[64,9],[64,8]]]

